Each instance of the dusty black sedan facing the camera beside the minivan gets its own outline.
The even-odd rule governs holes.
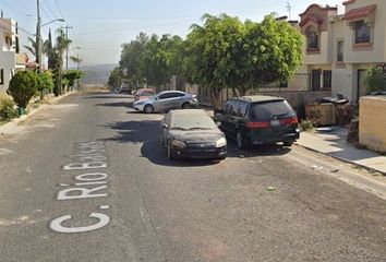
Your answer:
[[[169,111],[161,121],[160,144],[168,159],[227,157],[227,140],[214,120],[201,109]]]

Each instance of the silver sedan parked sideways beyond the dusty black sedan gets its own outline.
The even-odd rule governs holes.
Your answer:
[[[195,95],[181,91],[165,91],[144,100],[134,102],[135,110],[144,112],[168,111],[179,108],[196,107],[198,104]]]

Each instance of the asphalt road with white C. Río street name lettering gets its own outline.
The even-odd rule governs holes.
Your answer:
[[[73,95],[0,138],[0,261],[386,261],[385,200],[313,153],[168,162],[130,106]]]

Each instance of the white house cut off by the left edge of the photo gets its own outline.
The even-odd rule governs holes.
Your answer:
[[[0,19],[0,92],[5,92],[16,70],[19,53],[17,24],[12,19]]]

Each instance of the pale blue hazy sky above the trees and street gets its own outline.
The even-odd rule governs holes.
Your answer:
[[[261,21],[272,12],[299,20],[299,14],[312,3],[339,5],[343,0],[40,0],[41,35],[47,39],[49,28],[71,26],[70,56],[79,55],[83,66],[118,63],[121,45],[144,32],[185,37],[192,24],[200,24],[205,13],[227,13],[241,20]],[[289,12],[286,8],[291,7]],[[33,37],[37,23],[36,0],[0,0],[4,17],[14,19],[20,27],[22,45]],[[26,51],[22,48],[22,51]],[[29,56],[33,58],[33,56]],[[73,64],[70,64],[73,67]]]

